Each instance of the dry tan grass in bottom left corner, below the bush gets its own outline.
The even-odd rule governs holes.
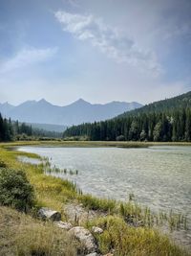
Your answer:
[[[79,244],[51,222],[33,220],[30,216],[0,207],[0,255],[77,255]]]

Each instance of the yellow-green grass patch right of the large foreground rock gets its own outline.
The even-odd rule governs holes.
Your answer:
[[[129,226],[118,216],[107,216],[87,223],[90,229],[94,225],[104,230],[102,234],[95,235],[103,254],[114,250],[115,256],[188,255],[178,246],[170,243],[166,236],[161,236],[157,230]]]

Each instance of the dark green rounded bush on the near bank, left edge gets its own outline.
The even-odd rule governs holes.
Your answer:
[[[34,205],[33,187],[22,171],[0,169],[0,204],[28,212]]]

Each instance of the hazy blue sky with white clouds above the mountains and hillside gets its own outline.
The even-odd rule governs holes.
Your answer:
[[[190,0],[0,0],[0,103],[148,104],[190,90]]]

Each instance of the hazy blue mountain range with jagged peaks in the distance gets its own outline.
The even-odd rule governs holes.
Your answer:
[[[0,104],[3,116],[19,122],[72,126],[113,118],[125,111],[142,106],[136,102],[90,104],[79,99],[71,105],[52,105],[46,100],[27,101],[21,105]]]

